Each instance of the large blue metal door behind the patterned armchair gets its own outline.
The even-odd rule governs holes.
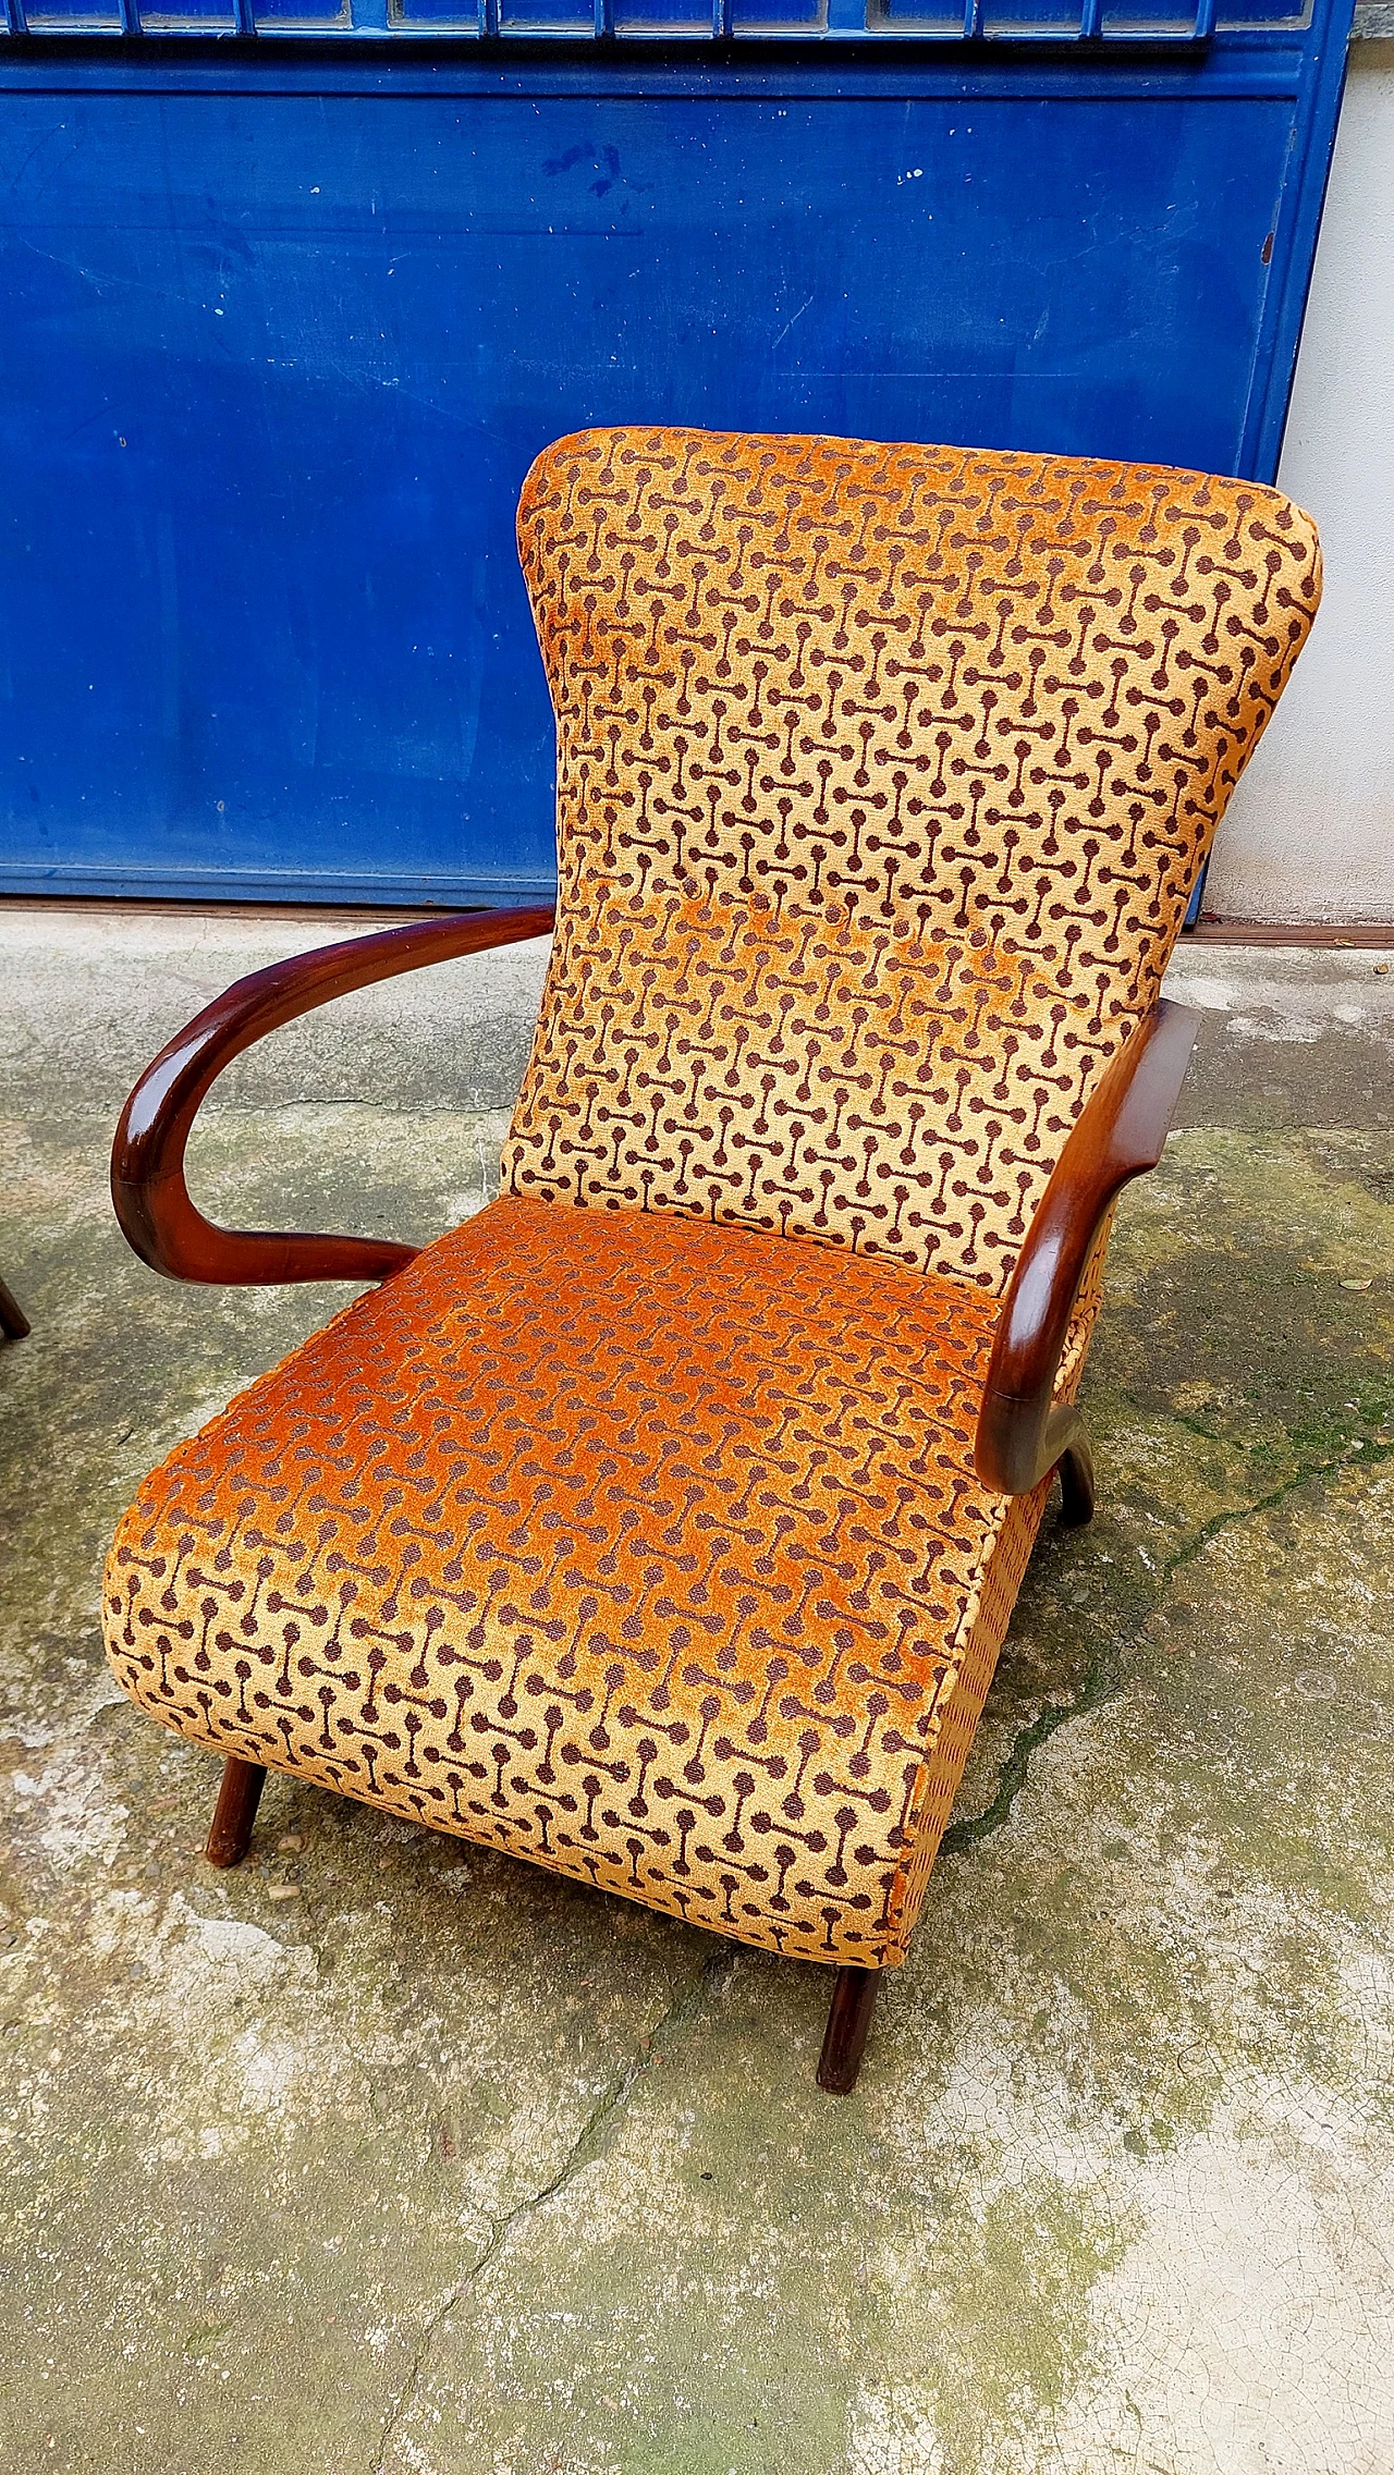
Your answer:
[[[1349,0],[17,5],[2,889],[547,886],[569,428],[1275,470]]]

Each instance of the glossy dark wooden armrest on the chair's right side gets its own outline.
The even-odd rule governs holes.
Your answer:
[[[1161,1005],[1139,1022],[1087,1099],[1025,1235],[1003,1312],[973,1460],[1003,1495],[1028,1495],[1080,1433],[1055,1408],[1065,1334],[1102,1220],[1129,1178],[1156,1168],[1201,1017]]]

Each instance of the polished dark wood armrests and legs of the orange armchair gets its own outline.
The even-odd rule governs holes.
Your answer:
[[[255,1287],[399,1272],[418,1247],[305,1230],[225,1230],[206,1220],[183,1176],[198,1106],[233,1057],[297,1015],[404,970],[547,936],[552,926],[552,906],[413,921],[272,963],[206,1005],[146,1067],[116,1126],[111,1200],[136,1255],[168,1280]],[[1161,1158],[1198,1027],[1191,1007],[1161,1000],[1112,1059],[1065,1141],[1003,1297],[973,1458],[981,1480],[1003,1495],[1028,1495],[1060,1470],[1067,1522],[1087,1522],[1094,1510],[1080,1411],[1055,1403],[1070,1317],[1114,1198]],[[206,1849],[210,1864],[233,1866],[248,1854],[262,1782],[265,1770],[255,1762],[225,1762]],[[847,2096],[857,2086],[879,1980],[877,1968],[837,1970],[817,2064],[817,2084],[829,2094]]]

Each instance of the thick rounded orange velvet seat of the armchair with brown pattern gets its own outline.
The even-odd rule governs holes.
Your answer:
[[[503,1198],[146,1480],[114,1671],[215,1752],[894,1963],[1040,1522],[973,1475],[993,1322],[844,1250]]]

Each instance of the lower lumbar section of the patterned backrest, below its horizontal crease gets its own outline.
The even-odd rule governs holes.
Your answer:
[[[1132,1020],[1132,1017],[1129,1017]],[[1117,1047],[1023,955],[800,903],[577,903],[503,1158],[1003,1289]]]

